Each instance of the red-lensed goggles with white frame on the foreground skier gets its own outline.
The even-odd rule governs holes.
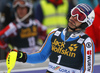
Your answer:
[[[86,22],[86,20],[87,20],[86,14],[84,12],[82,12],[79,8],[76,8],[76,7],[71,10],[71,15],[77,16],[77,20],[82,23]]]

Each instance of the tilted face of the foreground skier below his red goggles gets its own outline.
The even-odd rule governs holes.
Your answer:
[[[81,24],[82,23],[77,20],[77,16],[71,16],[69,18],[69,23],[68,23],[69,27],[74,29],[74,28],[80,26]]]

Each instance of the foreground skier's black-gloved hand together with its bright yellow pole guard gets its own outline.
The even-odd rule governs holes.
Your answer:
[[[26,53],[23,53],[22,51],[17,51],[17,50],[13,50],[10,53],[8,53],[7,57],[6,57],[6,65],[7,65],[7,69],[8,72],[10,73],[11,70],[14,68],[16,61],[19,62],[26,62],[27,59],[27,55]]]

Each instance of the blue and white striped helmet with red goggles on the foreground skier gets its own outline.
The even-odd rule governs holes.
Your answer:
[[[88,26],[91,26],[95,18],[94,10],[89,5],[84,3],[75,6],[71,10],[71,15],[77,16],[77,20],[79,22],[82,22],[80,27],[83,29],[85,29]]]

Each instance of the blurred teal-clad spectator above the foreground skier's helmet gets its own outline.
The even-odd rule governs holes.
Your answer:
[[[94,9],[98,4],[98,0],[77,0],[77,4],[80,3],[86,3]]]

